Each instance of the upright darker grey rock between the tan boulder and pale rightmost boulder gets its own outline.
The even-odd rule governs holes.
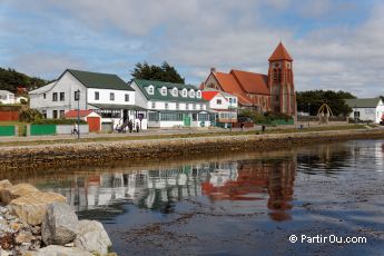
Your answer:
[[[72,208],[63,203],[48,206],[41,224],[41,236],[46,245],[65,245],[76,238],[79,219]]]

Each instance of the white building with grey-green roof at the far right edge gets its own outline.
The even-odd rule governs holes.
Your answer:
[[[384,104],[381,98],[346,99],[345,102],[353,110],[349,118],[376,124],[384,120]]]

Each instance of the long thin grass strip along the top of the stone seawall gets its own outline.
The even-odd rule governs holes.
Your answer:
[[[311,127],[304,129],[268,129],[264,134],[289,134],[289,132],[308,132],[308,131],[325,131],[325,130],[355,130],[366,129],[364,125],[346,125],[334,127]],[[146,135],[146,136],[126,136],[126,137],[98,137],[98,138],[82,138],[82,139],[57,139],[57,140],[35,140],[35,141],[13,141],[0,142],[0,146],[26,146],[26,145],[53,145],[53,144],[77,144],[77,142],[97,142],[97,141],[121,141],[121,140],[148,140],[148,139],[171,139],[171,138],[197,138],[197,137],[216,137],[216,136],[239,136],[239,135],[255,135],[263,134],[262,131],[246,130],[246,131],[220,131],[220,132],[200,132],[200,134],[174,134],[174,135]]]

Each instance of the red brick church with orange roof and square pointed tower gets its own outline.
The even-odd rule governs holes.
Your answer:
[[[293,59],[282,42],[278,43],[268,61],[267,76],[236,69],[225,73],[213,68],[200,89],[214,88],[236,95],[240,108],[294,116],[296,92]]]

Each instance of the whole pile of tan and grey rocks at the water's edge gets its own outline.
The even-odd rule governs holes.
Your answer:
[[[6,179],[0,201],[1,256],[116,255],[101,223],[79,220],[59,194]]]

